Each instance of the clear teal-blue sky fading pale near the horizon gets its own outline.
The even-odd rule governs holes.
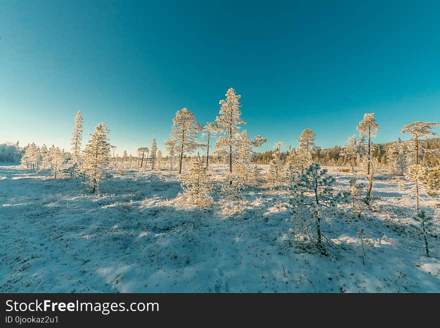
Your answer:
[[[439,1],[206,2],[2,0],[0,142],[68,148],[80,109],[118,153],[163,148],[176,110],[212,121],[229,87],[263,149],[343,144],[365,112],[375,142],[440,121]]]

